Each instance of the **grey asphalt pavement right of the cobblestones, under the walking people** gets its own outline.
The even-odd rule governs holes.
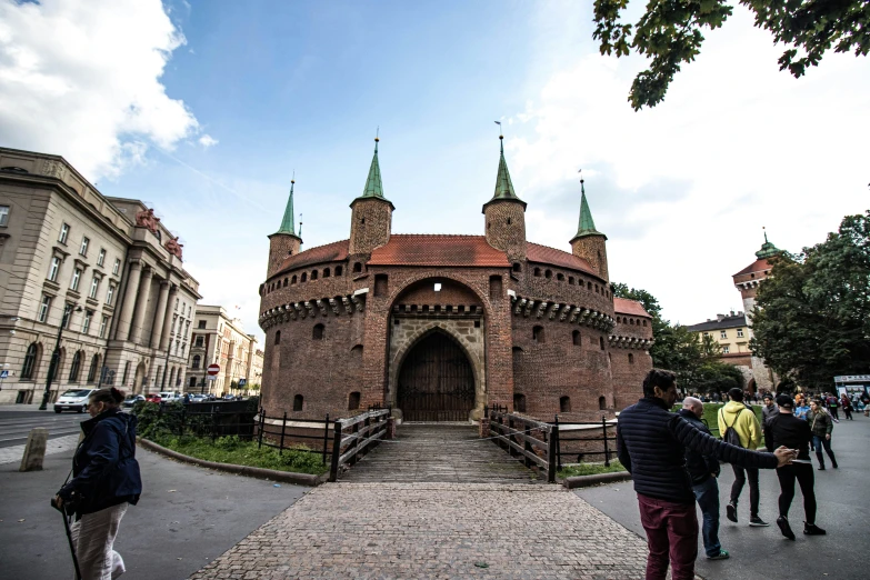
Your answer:
[[[828,536],[809,537],[803,531],[803,497],[796,492],[789,521],[797,541],[786,540],[776,526],[779,480],[772,471],[762,471],[760,516],[769,528],[750,528],[749,488],[743,489],[738,509],[739,523],[724,517],[724,503],[734,480],[730,466],[722,466],[719,496],[722,502],[719,539],[731,553],[729,560],[710,561],[703,557],[703,544],[698,542],[696,572],[707,580],[740,578],[741,580],[796,580],[819,578],[832,580],[868,578],[867,548],[870,538],[870,506],[863,490],[870,478],[867,443],[870,440],[870,419],[854,414],[854,421],[840,421],[831,439],[840,469],[831,469],[826,457],[826,471],[816,473],[816,498],[819,503],[816,522]],[[813,467],[818,467],[812,454]],[[637,496],[631,481],[578,490],[577,494],[600,509],[622,526],[646,538],[640,524]],[[698,511],[698,521],[701,512]]]

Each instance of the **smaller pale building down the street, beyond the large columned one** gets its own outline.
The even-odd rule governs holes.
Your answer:
[[[241,320],[230,318],[223,307],[197,307],[190,340],[190,360],[184,379],[187,392],[221,396],[247,392],[248,387],[260,384],[262,351],[257,348],[257,338],[246,333]],[[209,364],[220,367],[213,381],[207,380]],[[244,388],[238,388],[239,379],[244,379]]]

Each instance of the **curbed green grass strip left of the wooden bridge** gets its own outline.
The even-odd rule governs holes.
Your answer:
[[[267,446],[258,449],[256,441],[243,441],[236,436],[218,438],[213,443],[211,439],[190,436],[162,436],[156,437],[153,441],[172,451],[218,463],[292,471],[312,476],[319,476],[329,471],[329,466],[323,464],[320,453],[303,451],[306,449],[303,446],[284,448],[283,453],[279,454],[277,449]]]

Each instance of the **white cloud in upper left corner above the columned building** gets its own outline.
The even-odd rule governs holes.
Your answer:
[[[160,82],[184,44],[160,0],[0,0],[0,143],[66,157],[91,180],[193,133]]]

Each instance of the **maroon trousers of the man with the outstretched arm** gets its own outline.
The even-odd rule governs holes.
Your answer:
[[[698,558],[694,502],[674,503],[638,493],[638,507],[650,550],[647,580],[664,580],[669,559],[673,580],[693,580],[694,559]]]

